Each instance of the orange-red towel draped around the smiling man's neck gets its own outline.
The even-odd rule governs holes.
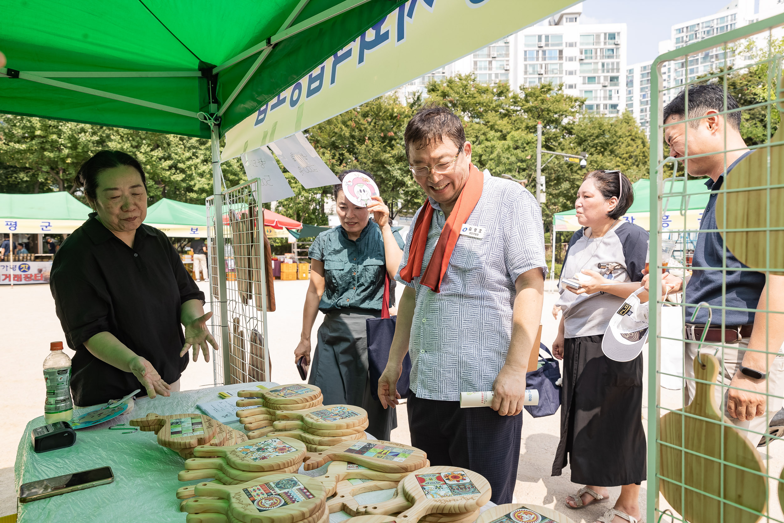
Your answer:
[[[484,175],[479,172],[479,169],[474,164],[469,164],[468,180],[441,230],[441,237],[438,238],[433,256],[430,257],[430,263],[427,264],[423,274],[422,262],[427,245],[427,232],[430,231],[430,222],[433,220],[433,205],[430,205],[430,199],[425,202],[422,212],[419,212],[419,220],[416,220],[414,225],[411,246],[408,248],[408,263],[400,271],[403,281],[411,283],[413,278],[422,275],[419,283],[429,287],[433,292],[439,292],[441,280],[444,278],[449,259],[460,235],[460,227],[466,223],[479,202],[484,182]]]

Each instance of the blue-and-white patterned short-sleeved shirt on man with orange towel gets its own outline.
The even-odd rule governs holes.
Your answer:
[[[432,198],[430,205],[435,210],[423,272],[446,222]],[[421,212],[416,212],[408,231],[401,268],[408,263]],[[484,227],[485,234],[482,239],[459,237],[441,292],[419,285],[419,278],[406,283],[400,271],[395,277],[416,290],[408,351],[411,390],[418,398],[459,401],[461,392],[492,390],[509,350],[514,282],[536,267],[543,274],[547,271],[542,212],[520,184],[485,175],[481,198],[466,223]]]

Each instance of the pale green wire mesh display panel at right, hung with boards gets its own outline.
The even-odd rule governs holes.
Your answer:
[[[647,521],[784,523],[784,440],[768,435],[784,393],[782,25],[784,15],[761,20],[652,64],[651,209],[660,220],[651,222],[659,296],[650,318]],[[664,85],[681,63],[683,81]],[[704,84],[720,93],[713,111],[689,90]],[[664,100],[684,88],[684,114],[664,121]],[[699,223],[687,213],[690,198],[705,196],[695,176],[710,177],[712,210]],[[680,216],[662,210],[673,202]],[[718,256],[706,254],[710,242]],[[673,296],[662,296],[664,271]],[[695,303],[709,286],[717,297]],[[765,379],[741,372],[749,361]],[[738,409],[746,401],[753,419]]]

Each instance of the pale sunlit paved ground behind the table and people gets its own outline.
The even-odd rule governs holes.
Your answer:
[[[268,315],[270,323],[270,347],[272,379],[278,383],[299,382],[299,375],[292,361],[292,352],[299,341],[302,325],[302,303],[307,281],[275,281],[275,296],[278,311]],[[205,283],[200,284],[207,290]],[[557,322],[550,311],[556,295],[547,292],[543,313],[543,342],[549,347],[557,332]],[[0,412],[4,426],[2,441],[8,442],[0,451],[0,516],[16,512],[16,493],[13,492],[13,463],[16,445],[29,419],[40,416],[45,397],[42,379],[42,363],[49,352],[49,342],[64,340],[60,323],[54,312],[49,285],[17,285],[13,289],[0,287],[0,354],[6,369],[0,381]],[[321,314],[317,320],[318,328]],[[313,340],[315,340],[315,332]],[[70,352],[70,351],[69,351]],[[646,353],[647,354],[647,353]],[[188,365],[181,380],[182,390],[212,385],[212,361],[199,361]],[[644,395],[647,398],[647,393]],[[679,394],[665,391],[662,403],[677,408]],[[644,409],[643,412],[646,412]],[[559,438],[560,418],[556,416],[533,419],[524,413],[522,448],[519,456],[515,500],[557,507],[564,512],[563,499],[581,485],[569,481],[568,468],[561,477],[550,477],[553,456]],[[399,407],[399,427],[392,433],[394,441],[407,443],[408,423],[405,405]],[[644,419],[644,423],[647,420]],[[778,475],[784,466],[784,442],[777,441],[768,450],[778,456],[771,459],[770,470]],[[764,456],[767,457],[767,456]],[[641,502],[644,503],[647,485],[643,483]],[[618,496],[619,488],[612,488],[612,498]],[[775,500],[775,485],[771,482],[772,499]],[[778,503],[772,502],[771,516],[781,518]],[[592,523],[605,510],[606,505],[589,507],[585,510],[568,511],[575,523]],[[652,522],[649,522],[652,523]]]

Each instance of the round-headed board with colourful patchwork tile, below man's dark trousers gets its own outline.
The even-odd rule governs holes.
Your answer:
[[[397,485],[387,502],[358,507],[358,514],[397,514],[397,521],[419,521],[426,514],[463,514],[479,510],[490,500],[490,483],[473,470],[426,467]],[[401,512],[402,510],[402,512]],[[467,516],[467,514],[466,514]]]

